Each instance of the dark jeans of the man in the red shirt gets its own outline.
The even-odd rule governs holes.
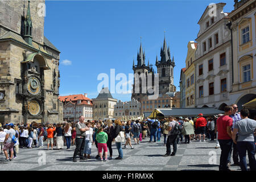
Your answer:
[[[218,139],[218,142],[220,143],[220,148],[221,148],[219,170],[227,171],[228,170],[228,158],[229,158],[230,151],[232,150],[233,140],[232,139],[228,139],[228,140]]]

